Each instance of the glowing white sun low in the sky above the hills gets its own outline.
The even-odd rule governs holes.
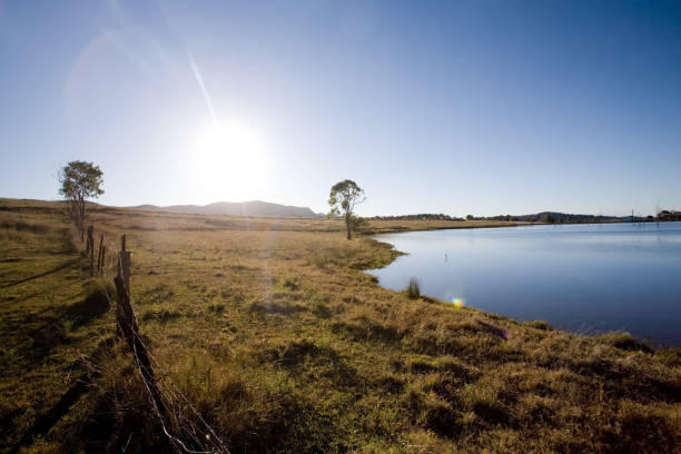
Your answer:
[[[267,187],[270,160],[263,134],[236,121],[203,129],[193,147],[195,181],[215,200],[257,198]]]

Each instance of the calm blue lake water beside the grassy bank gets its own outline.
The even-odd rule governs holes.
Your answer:
[[[681,345],[681,223],[527,226],[379,235],[408,255],[372,270],[421,292],[584,334]]]

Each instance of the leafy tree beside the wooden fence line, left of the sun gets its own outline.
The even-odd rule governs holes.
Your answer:
[[[86,200],[103,194],[101,176],[99,166],[86,161],[70,161],[59,170],[59,195],[69,204],[81,241],[85,241]]]

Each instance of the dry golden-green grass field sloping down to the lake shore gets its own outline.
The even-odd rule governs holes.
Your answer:
[[[160,383],[233,453],[681,452],[679,349],[383,289],[363,269],[398,253],[337,220],[91,220],[109,250],[128,236]],[[164,452],[115,342],[114,254],[93,279],[79,248],[60,204],[0,199],[0,452]]]

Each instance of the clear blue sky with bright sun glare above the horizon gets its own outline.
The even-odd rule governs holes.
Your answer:
[[[681,209],[681,2],[0,0],[0,197]]]

